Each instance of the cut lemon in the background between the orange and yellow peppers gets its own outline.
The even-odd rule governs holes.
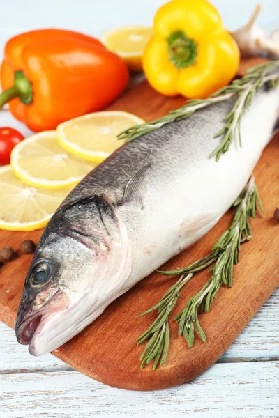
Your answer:
[[[146,26],[127,26],[107,31],[101,40],[107,49],[123,58],[130,70],[141,71],[142,55],[152,33],[152,28]]]

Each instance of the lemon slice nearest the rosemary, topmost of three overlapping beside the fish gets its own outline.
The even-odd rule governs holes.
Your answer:
[[[70,153],[102,162],[123,144],[117,134],[140,123],[144,123],[141,118],[125,111],[100,111],[61,123],[58,140]]]

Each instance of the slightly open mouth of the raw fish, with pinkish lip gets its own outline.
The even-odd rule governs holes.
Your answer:
[[[29,314],[20,325],[15,327],[17,341],[25,346],[30,346],[36,336],[43,330],[50,317],[66,309],[68,302],[66,293],[61,290],[56,291],[43,307],[40,307],[35,313]]]

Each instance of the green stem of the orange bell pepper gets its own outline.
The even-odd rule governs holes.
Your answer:
[[[24,104],[31,104],[33,100],[33,90],[31,82],[25,77],[22,71],[15,72],[15,84],[0,93],[0,109],[3,105],[15,98],[19,98]]]

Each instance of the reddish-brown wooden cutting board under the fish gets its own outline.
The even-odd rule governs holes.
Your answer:
[[[258,61],[243,62],[240,75],[245,68]],[[109,109],[130,111],[151,121],[184,102],[183,98],[165,98],[142,82],[123,94]],[[186,341],[178,336],[178,327],[173,320],[186,300],[209,279],[208,272],[201,272],[183,289],[169,320],[171,338],[166,364],[159,366],[156,371],[152,371],[151,365],[140,369],[144,345],[136,346],[135,340],[151,324],[156,314],[153,312],[142,318],[136,316],[158,302],[175,280],[154,272],[110,304],[94,323],[52,354],[100,382],[136,390],[179,385],[216,362],[279,285],[279,223],[273,218],[276,205],[279,206],[278,139],[277,135],[266,147],[255,168],[266,216],[258,215],[251,222],[255,237],[241,247],[241,261],[234,268],[233,287],[221,288],[209,314],[200,316],[207,343],[202,343],[196,335],[195,344],[189,349]],[[227,229],[231,219],[232,212],[228,212],[202,240],[166,263],[164,269],[183,267],[206,255]],[[10,245],[19,249],[22,240],[29,238],[38,242],[41,233],[0,231],[0,247]],[[10,327],[15,324],[31,258],[21,255],[11,263],[0,266],[0,320]]]

